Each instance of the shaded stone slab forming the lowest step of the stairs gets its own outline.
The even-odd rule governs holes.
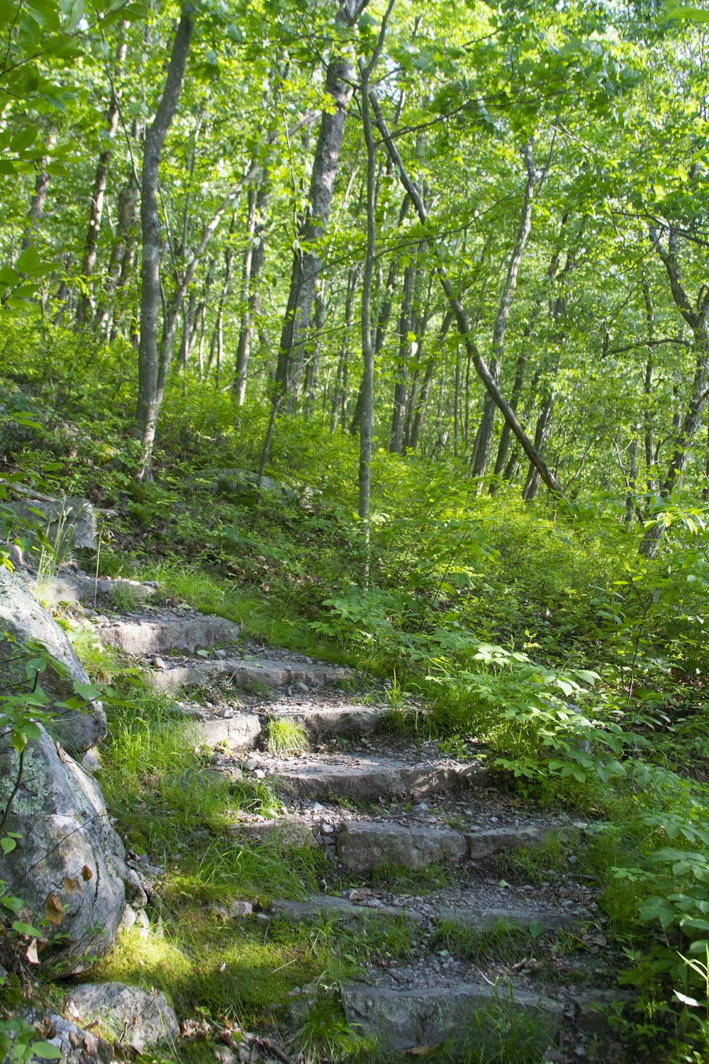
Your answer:
[[[471,1015],[507,999],[503,987],[485,983],[458,983],[420,990],[377,986],[345,986],[342,994],[349,1024],[376,1040],[384,1052],[402,1051],[449,1042],[465,1042]],[[510,1008],[533,1014],[540,1031],[552,1038],[560,1027],[563,1010],[556,1001],[516,991]],[[545,1046],[541,1046],[543,1052]]]

